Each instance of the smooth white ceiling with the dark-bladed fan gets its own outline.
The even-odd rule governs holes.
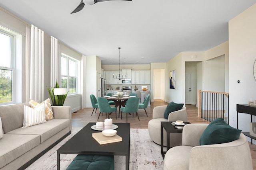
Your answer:
[[[256,0],[113,0],[70,14],[79,3],[0,0],[0,7],[102,64],[118,64],[118,47],[121,64],[149,64],[227,41],[228,21]]]

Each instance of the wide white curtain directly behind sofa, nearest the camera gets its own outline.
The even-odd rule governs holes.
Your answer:
[[[44,31],[26,27],[26,101],[44,100]]]

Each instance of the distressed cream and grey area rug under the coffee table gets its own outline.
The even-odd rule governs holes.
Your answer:
[[[72,133],[58,143],[51,150],[46,152],[26,170],[56,170],[57,152],[68,139],[74,136],[80,129],[72,127]],[[148,129],[130,130],[130,170],[162,170],[164,169],[164,160],[161,155],[160,146],[153,143],[148,135]],[[60,154],[60,169],[65,170],[75,154]],[[115,170],[125,170],[125,156],[114,156]]]

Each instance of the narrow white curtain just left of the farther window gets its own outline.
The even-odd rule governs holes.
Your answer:
[[[51,87],[58,80],[58,39],[51,36]]]

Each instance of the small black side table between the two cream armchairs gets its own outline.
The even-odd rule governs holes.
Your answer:
[[[185,125],[190,122],[184,122]],[[177,129],[172,125],[172,121],[161,121],[161,154],[164,158],[164,141],[163,141],[163,129],[166,131],[166,152],[170,149],[170,133],[182,133],[183,129]]]

